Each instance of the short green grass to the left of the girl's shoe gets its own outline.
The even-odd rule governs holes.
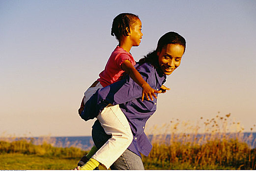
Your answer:
[[[79,159],[5,153],[0,154],[0,170],[72,170]]]

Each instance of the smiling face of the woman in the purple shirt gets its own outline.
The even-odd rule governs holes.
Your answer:
[[[157,52],[159,65],[166,75],[171,73],[180,65],[184,53],[184,46],[180,44],[167,44],[160,52]]]

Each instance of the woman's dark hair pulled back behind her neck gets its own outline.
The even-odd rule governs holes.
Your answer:
[[[158,40],[156,50],[149,52],[144,58],[140,59],[139,64],[150,63],[157,68],[159,66],[157,52],[161,52],[167,44],[180,44],[184,47],[185,52],[186,40],[178,33],[168,32]]]

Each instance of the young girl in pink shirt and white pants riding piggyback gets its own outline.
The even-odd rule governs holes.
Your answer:
[[[147,100],[150,98],[153,101],[153,97],[157,98],[155,93],[162,92],[161,90],[151,88],[142,78],[141,74],[134,68],[136,62],[132,57],[130,50],[132,46],[140,45],[143,35],[141,30],[142,22],[140,21],[139,17],[134,14],[122,13],[114,18],[111,35],[116,37],[119,44],[112,52],[105,69],[99,74],[100,78],[85,91],[85,96],[79,109],[79,114],[81,117],[83,116],[85,103],[97,91],[97,89],[119,81],[124,73],[129,75],[138,85],[142,87],[142,101],[144,100],[144,96]],[[169,88],[166,87],[163,87],[163,89],[169,90]],[[113,141],[111,141],[113,145],[108,147],[108,150],[114,148],[113,150],[115,150],[115,155],[113,157],[113,161],[105,162],[104,164],[105,166],[109,166],[114,163],[114,161],[124,152],[124,150],[128,148],[132,142],[133,135],[129,123],[121,111],[116,111],[112,114],[105,113],[104,116],[101,113],[96,118],[100,121],[105,132],[113,137]],[[111,127],[109,124],[110,122]],[[116,144],[120,144],[121,146],[116,148]],[[93,147],[91,151],[80,160],[78,166],[83,166],[87,159],[89,159],[96,151],[97,148]],[[89,159],[89,161],[83,166],[83,169],[93,170],[99,165],[99,162],[95,156],[96,155]],[[98,152],[97,156],[109,157],[102,152]],[[98,157],[98,160],[101,162],[102,158]],[[94,165],[95,163],[96,165]],[[91,167],[92,165],[95,167]]]

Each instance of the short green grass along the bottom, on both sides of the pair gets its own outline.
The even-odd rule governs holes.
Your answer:
[[[0,170],[72,170],[80,158],[38,156],[35,154],[0,154]],[[145,170],[236,170],[234,167],[209,165],[193,167],[190,163],[168,163],[143,160]]]

